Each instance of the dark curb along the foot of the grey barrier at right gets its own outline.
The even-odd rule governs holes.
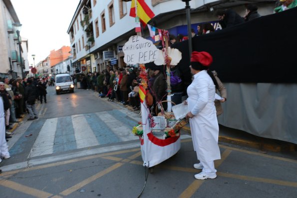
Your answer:
[[[184,126],[183,130],[191,134],[190,127]],[[266,139],[266,138],[265,138]],[[265,142],[263,138],[259,138],[259,141],[250,141],[240,138],[232,138],[229,136],[219,136],[219,142],[230,143],[234,145],[246,146],[254,149],[259,149],[261,152],[265,153],[266,151],[272,152],[289,152],[297,151],[297,145],[293,143],[281,143],[276,140],[267,139],[270,142],[275,141],[274,143]]]

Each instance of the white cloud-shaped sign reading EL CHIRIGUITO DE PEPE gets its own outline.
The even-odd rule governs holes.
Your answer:
[[[131,36],[123,47],[124,62],[126,64],[144,64],[158,58],[158,48],[151,40],[141,36]]]

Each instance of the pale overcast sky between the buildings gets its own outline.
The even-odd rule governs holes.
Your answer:
[[[19,22],[20,36],[28,39],[28,61],[44,60],[51,50],[70,46],[67,34],[79,0],[10,0]]]

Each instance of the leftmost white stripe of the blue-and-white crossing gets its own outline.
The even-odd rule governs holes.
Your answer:
[[[29,157],[52,154],[57,122],[57,118],[45,121],[34,142]]]

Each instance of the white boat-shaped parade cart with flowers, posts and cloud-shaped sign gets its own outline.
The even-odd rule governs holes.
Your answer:
[[[181,147],[180,129],[187,124],[186,119],[176,119],[172,112],[170,90],[170,64],[177,64],[181,59],[181,52],[168,47],[168,31],[162,31],[162,50],[156,48],[152,41],[139,35],[131,36],[123,47],[124,61],[127,64],[139,64],[141,83],[139,85],[139,97],[141,101],[142,122],[133,127],[132,132],[139,137],[143,165],[151,168],[175,155]],[[139,47],[136,46],[146,46]],[[137,50],[136,50],[137,48]],[[145,59],[144,57],[147,57]],[[133,61],[135,60],[135,61]],[[166,67],[167,76],[167,110],[162,108],[158,116],[152,116],[147,106],[148,75],[145,63],[152,62],[160,67]],[[173,103],[174,104],[174,103]],[[186,109],[186,107],[184,107]]]

